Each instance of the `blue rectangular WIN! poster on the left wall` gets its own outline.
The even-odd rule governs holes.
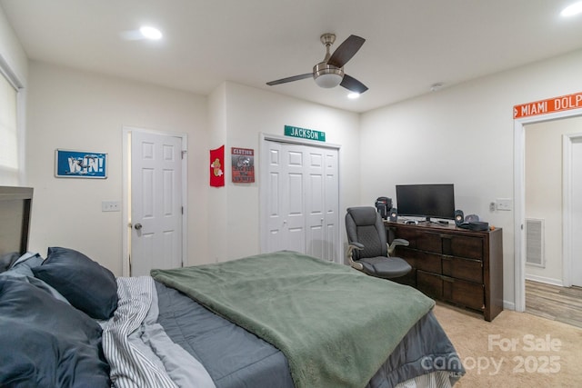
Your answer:
[[[55,150],[57,178],[107,177],[107,154],[90,151]]]

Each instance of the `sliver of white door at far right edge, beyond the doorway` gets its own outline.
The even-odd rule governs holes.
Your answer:
[[[572,141],[572,195],[570,220],[572,225],[572,285],[582,287],[582,137]]]

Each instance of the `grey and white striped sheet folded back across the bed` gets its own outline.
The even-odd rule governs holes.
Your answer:
[[[116,387],[156,388],[196,385],[214,388],[206,369],[157,323],[154,281],[149,276],[118,278],[115,317],[105,323],[103,347]]]

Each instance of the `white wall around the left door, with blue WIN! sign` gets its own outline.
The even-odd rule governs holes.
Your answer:
[[[208,257],[206,97],[31,62],[27,107],[31,250],[70,247],[122,273],[122,213],[101,212],[101,202],[122,200],[127,125],[188,134],[189,264]],[[56,148],[108,153],[107,179],[55,178]]]

